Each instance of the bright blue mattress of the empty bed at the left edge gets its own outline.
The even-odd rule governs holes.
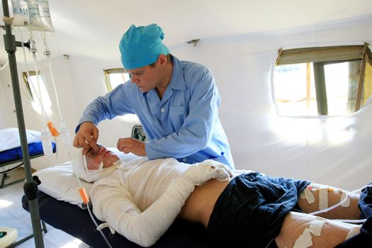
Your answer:
[[[55,142],[52,142],[53,152],[55,152]],[[44,154],[43,145],[40,142],[33,142],[28,144],[28,153],[30,157]],[[21,147],[16,147],[3,152],[0,152],[0,166],[1,164],[6,164],[9,162],[18,162],[18,160],[23,159]]]

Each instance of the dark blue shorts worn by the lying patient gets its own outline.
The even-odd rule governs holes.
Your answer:
[[[308,184],[258,172],[236,176],[210,215],[210,241],[219,247],[266,247],[278,236],[286,214],[300,211],[298,195]]]

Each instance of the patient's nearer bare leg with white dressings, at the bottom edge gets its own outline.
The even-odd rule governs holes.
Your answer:
[[[281,232],[275,242],[281,247],[335,247],[359,233],[360,226],[328,220],[305,213],[290,212],[286,215]]]

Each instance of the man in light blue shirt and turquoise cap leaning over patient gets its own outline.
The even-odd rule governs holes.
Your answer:
[[[163,39],[157,24],[132,25],[124,33],[119,48],[131,79],[86,107],[74,146],[97,150],[96,125],[107,118],[134,113],[149,141],[120,138],[118,150],[149,159],[174,157],[188,164],[214,159],[234,169],[218,118],[220,94],[212,72],[171,55]]]

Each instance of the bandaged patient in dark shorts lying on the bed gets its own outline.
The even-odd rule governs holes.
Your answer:
[[[226,247],[356,247],[372,240],[372,218],[363,216],[371,205],[364,205],[368,210],[361,213],[356,193],[252,171],[232,174],[213,160],[120,163],[105,147],[87,152],[86,168],[79,159],[84,160],[81,150],[74,159],[78,176],[99,179],[91,189],[96,217],[144,247],[156,243],[176,218],[201,222],[211,242]],[[91,172],[94,176],[87,176]],[[371,187],[364,189],[362,200],[371,192]],[[305,214],[343,199],[326,213]],[[363,225],[322,221],[357,220],[361,214],[368,218]]]

